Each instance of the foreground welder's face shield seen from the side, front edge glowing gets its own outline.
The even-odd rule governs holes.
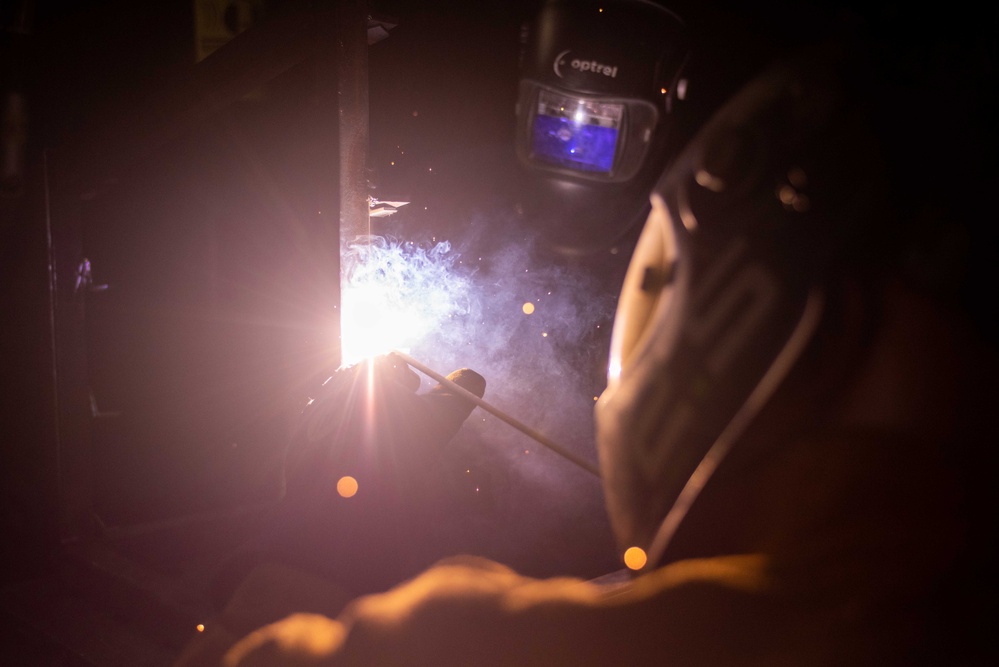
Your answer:
[[[769,71],[664,175],[595,408],[619,546],[655,567],[700,489],[823,324],[884,183],[837,54]]]

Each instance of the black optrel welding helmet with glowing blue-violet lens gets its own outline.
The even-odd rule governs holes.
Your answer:
[[[610,249],[637,233],[672,145],[685,26],[648,0],[549,0],[523,37],[519,206],[558,253]]]

